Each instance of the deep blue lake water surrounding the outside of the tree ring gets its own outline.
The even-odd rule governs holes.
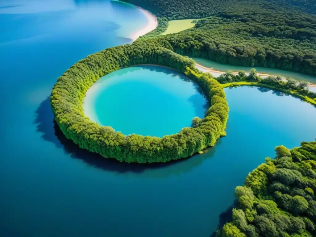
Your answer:
[[[130,43],[115,29],[142,16],[109,1],[25,2],[0,1],[0,236],[208,237],[275,146],[316,137],[313,106],[240,87],[225,89],[227,137],[202,155],[143,166],[77,149],[52,122],[52,86],[86,55]]]

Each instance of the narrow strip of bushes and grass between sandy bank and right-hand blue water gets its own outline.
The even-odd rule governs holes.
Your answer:
[[[280,76],[261,78],[257,75],[256,69],[254,68],[250,71],[248,76],[246,76],[243,70],[240,70],[237,75],[232,71],[227,71],[216,79],[222,84],[223,88],[252,85],[276,89],[316,106],[316,93],[308,90],[308,83],[305,81],[297,81],[293,78],[282,79]]]

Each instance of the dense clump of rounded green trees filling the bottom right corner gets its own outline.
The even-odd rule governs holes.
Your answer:
[[[276,147],[235,189],[232,221],[217,237],[311,237],[316,235],[316,142],[292,150]]]

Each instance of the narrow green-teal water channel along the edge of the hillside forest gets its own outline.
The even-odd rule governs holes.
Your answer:
[[[231,66],[231,65],[227,65],[227,64],[220,64],[220,63],[217,63],[215,61],[211,61],[211,60],[204,59],[204,58],[193,58],[193,60],[195,62],[197,62],[198,64],[201,64],[201,65],[208,67],[208,68],[213,68],[214,70],[217,70],[217,71],[223,71],[223,72],[226,72],[228,70],[250,71],[252,68],[255,68],[257,70],[257,72],[259,72],[259,73],[270,74],[270,75],[275,75],[275,76],[280,75],[280,76],[285,76],[285,77],[292,77],[296,80],[304,80],[307,82],[316,83],[315,76],[304,75],[301,73],[291,72],[291,71],[286,71],[286,70],[281,70],[281,69],[263,68],[263,67]]]

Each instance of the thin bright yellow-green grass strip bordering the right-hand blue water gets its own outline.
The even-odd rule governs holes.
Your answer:
[[[264,87],[264,88],[269,88],[269,89],[272,89],[272,90],[278,90],[278,91],[281,91],[283,93],[286,93],[286,94],[290,94],[290,95],[293,95],[297,98],[300,98],[301,100],[304,100],[306,101],[307,103],[313,105],[313,106],[316,106],[316,101],[305,96],[305,95],[301,95],[299,93],[297,93],[296,91],[293,91],[293,90],[285,90],[285,89],[282,89],[282,88],[278,88],[278,87],[275,87],[275,86],[271,86],[271,85],[267,85],[267,84],[263,84],[263,83],[259,83],[259,82],[229,82],[229,83],[225,83],[225,84],[222,84],[222,88],[226,88],[226,87],[234,87],[234,86],[258,86],[258,87]]]

